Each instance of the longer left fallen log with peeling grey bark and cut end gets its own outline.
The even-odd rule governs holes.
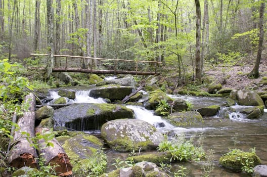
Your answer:
[[[29,112],[24,112],[23,116],[18,120],[17,124],[20,127],[14,134],[14,146],[10,150],[8,163],[10,166],[21,168],[29,166],[37,168],[35,157],[37,157],[36,150],[31,146],[31,139],[27,139],[22,135],[26,132],[29,137],[34,137],[34,123],[35,123],[35,97],[29,94],[25,97],[25,102],[29,104]]]

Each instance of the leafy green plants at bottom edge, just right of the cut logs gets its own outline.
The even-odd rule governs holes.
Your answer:
[[[75,159],[73,162],[73,174],[75,176],[99,176],[104,173],[107,165],[107,156],[103,150],[99,150],[88,159]]]

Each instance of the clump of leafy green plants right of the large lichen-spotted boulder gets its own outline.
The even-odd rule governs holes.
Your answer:
[[[170,161],[199,161],[205,157],[203,148],[195,146],[193,140],[186,140],[184,135],[176,136],[171,141],[161,142],[158,151],[171,153]]]

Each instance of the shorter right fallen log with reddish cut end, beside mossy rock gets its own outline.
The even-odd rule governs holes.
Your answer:
[[[36,128],[36,134],[44,135],[49,131],[48,128]],[[52,146],[47,146],[47,143],[53,144]],[[54,172],[59,176],[68,176],[72,174],[72,165],[69,161],[69,157],[59,144],[59,142],[54,138],[51,141],[45,142],[43,139],[38,140],[39,146],[39,156],[44,159],[44,164],[54,166]]]

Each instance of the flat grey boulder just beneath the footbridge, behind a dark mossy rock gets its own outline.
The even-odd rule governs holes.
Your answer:
[[[118,85],[123,85],[123,86],[135,86],[136,80],[131,75],[127,75],[123,78],[116,78],[116,79],[110,79],[110,80],[102,81],[102,82],[98,83],[97,86],[107,85],[107,84],[118,84]]]

